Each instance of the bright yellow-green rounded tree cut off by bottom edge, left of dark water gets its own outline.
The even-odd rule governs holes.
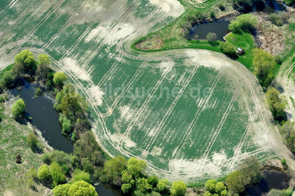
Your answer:
[[[83,180],[74,182],[68,191],[68,196],[98,196],[94,186]]]

